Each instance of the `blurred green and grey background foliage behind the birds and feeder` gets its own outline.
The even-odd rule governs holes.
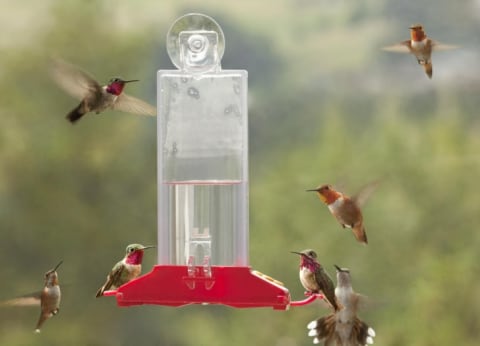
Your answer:
[[[119,308],[95,299],[132,242],[156,243],[156,119],[108,111],[72,126],[76,100],[49,78],[58,55],[102,83],[138,78],[155,104],[171,69],[170,25],[215,18],[223,68],[249,71],[250,263],[303,298],[298,258],[314,248],[334,277],[349,267],[370,297],[377,345],[477,345],[480,338],[480,1],[1,0],[0,300],[40,289],[60,259],[60,314],[0,309],[1,345],[310,345],[327,310],[223,306]],[[381,51],[427,34],[460,49]],[[305,189],[354,194],[383,177],[354,241]],[[156,256],[146,253],[144,272]],[[168,283],[165,283],[168,284]]]

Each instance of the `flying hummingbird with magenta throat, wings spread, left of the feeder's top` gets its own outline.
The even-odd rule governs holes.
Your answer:
[[[107,108],[135,114],[157,114],[152,105],[123,92],[125,84],[138,82],[138,79],[123,80],[117,77],[101,86],[89,73],[60,59],[53,60],[51,74],[63,90],[81,100],[80,104],[67,114],[67,119],[72,123],[88,112],[99,114]]]

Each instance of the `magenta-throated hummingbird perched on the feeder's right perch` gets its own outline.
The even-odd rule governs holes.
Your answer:
[[[322,265],[317,262],[317,254],[311,249],[302,252],[292,251],[300,255],[300,282],[308,293],[322,293],[325,300],[338,311],[333,281]]]

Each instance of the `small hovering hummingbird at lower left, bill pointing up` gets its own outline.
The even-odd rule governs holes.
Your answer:
[[[5,306],[38,306],[40,305],[40,318],[38,319],[35,332],[40,333],[43,323],[50,317],[56,315],[60,307],[60,285],[58,283],[57,269],[63,261],[60,261],[55,268],[45,273],[45,287],[39,292],[27,294],[2,302]]]

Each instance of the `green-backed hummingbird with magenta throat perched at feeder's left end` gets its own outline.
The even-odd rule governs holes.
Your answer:
[[[96,297],[101,297],[103,292],[118,288],[139,276],[142,272],[143,250],[153,247],[155,246],[128,245],[125,257],[115,264],[112,271],[107,275],[107,281],[98,289]]]

